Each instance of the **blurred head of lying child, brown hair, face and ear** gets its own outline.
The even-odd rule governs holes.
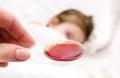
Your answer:
[[[60,32],[67,39],[84,43],[93,31],[93,22],[91,16],[68,9],[53,17],[47,27]]]

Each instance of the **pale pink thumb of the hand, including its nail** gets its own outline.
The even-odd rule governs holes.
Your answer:
[[[0,44],[0,62],[25,61],[30,57],[30,52],[18,45]]]

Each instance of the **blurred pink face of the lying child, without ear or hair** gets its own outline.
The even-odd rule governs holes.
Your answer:
[[[63,34],[66,38],[75,40],[78,42],[85,41],[85,34],[78,26],[72,23],[61,23],[52,28]]]

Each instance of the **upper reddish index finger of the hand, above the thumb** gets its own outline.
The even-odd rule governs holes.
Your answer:
[[[10,12],[0,8],[0,28],[4,28],[20,45],[30,47],[35,44],[30,34]]]

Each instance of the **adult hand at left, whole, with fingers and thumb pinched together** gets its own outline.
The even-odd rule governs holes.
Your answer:
[[[0,66],[6,67],[8,62],[27,60],[30,52],[25,47],[34,44],[17,18],[0,8]]]

